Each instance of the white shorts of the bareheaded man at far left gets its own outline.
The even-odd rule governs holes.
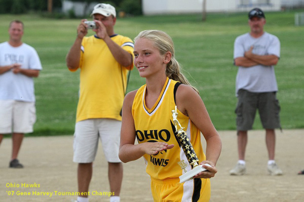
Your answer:
[[[32,133],[35,122],[34,102],[0,100],[0,134]]]

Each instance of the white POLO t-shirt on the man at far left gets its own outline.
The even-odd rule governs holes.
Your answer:
[[[22,69],[41,70],[42,65],[34,48],[27,44],[12,47],[8,42],[0,44],[0,66],[21,64]],[[12,70],[0,74],[0,100],[34,102],[33,78],[14,74]]]

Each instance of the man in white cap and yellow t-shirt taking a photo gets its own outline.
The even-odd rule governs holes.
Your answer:
[[[127,72],[133,68],[134,44],[115,34],[115,8],[98,4],[93,22],[82,20],[77,37],[66,56],[70,71],[80,68],[80,98],[74,133],[73,161],[78,163],[78,202],[87,202],[98,139],[108,161],[110,201],[120,201],[123,166],[118,157],[121,109],[127,85]],[[94,26],[95,23],[95,26]],[[96,32],[87,37],[88,28]]]

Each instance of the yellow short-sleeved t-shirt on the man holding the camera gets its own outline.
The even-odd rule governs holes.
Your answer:
[[[134,59],[134,44],[130,38],[116,34],[111,39]],[[80,97],[76,122],[89,118],[122,120],[120,111],[128,70],[115,60],[103,39],[96,36],[83,38],[79,68]]]

